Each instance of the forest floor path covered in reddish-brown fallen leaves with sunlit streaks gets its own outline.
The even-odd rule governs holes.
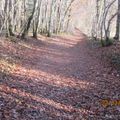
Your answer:
[[[118,120],[120,78],[96,52],[79,32],[1,39],[0,120]]]

